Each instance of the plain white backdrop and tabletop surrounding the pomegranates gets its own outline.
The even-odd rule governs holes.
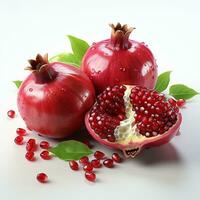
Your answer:
[[[63,161],[26,161],[24,147],[13,143],[15,129],[24,123],[19,116],[6,116],[8,109],[17,110],[11,80],[25,78],[27,59],[69,51],[66,34],[90,43],[105,39],[108,23],[118,21],[136,27],[131,38],[149,45],[159,72],[172,70],[172,83],[200,91],[199,20],[198,0],[0,0],[0,199],[199,199],[199,97],[182,111],[180,137],[98,171],[95,184]],[[48,184],[35,180],[41,171],[48,174]]]

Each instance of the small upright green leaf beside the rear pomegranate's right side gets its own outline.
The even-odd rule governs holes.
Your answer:
[[[158,76],[156,87],[155,87],[155,90],[157,92],[160,93],[167,89],[170,82],[170,74],[171,74],[171,71],[166,71]]]

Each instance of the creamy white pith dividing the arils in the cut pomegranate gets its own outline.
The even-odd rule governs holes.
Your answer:
[[[114,135],[116,138],[115,142],[119,144],[141,142],[144,139],[145,140],[149,139],[139,133],[137,124],[135,123],[136,112],[133,110],[133,106],[130,102],[130,94],[131,94],[132,88],[133,86],[126,85],[126,91],[124,92],[124,96],[123,96],[126,119],[120,121],[119,126],[117,126],[114,130]]]

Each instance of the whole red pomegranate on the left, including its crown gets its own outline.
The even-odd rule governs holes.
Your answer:
[[[29,60],[31,74],[18,93],[18,109],[30,130],[64,138],[79,130],[95,99],[92,82],[81,70],[48,56]]]

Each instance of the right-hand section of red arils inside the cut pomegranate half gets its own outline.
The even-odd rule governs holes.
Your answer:
[[[178,107],[163,94],[146,88],[134,87],[130,102],[135,110],[135,120],[139,133],[152,137],[165,133],[176,123]]]

